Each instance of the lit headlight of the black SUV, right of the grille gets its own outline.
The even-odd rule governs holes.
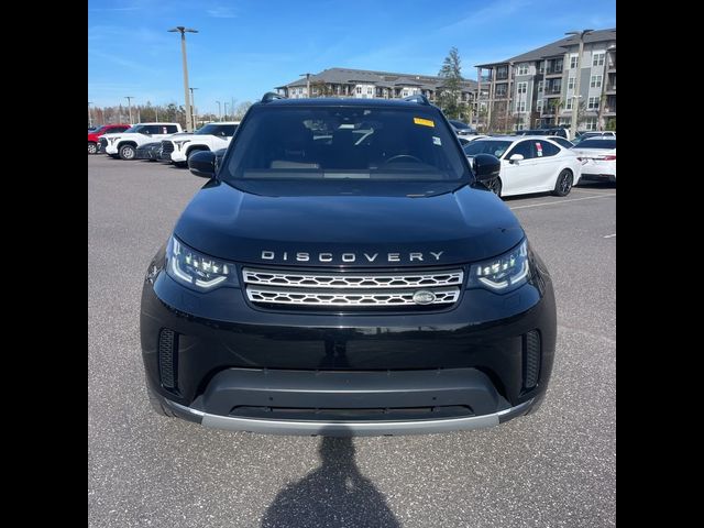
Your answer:
[[[504,294],[525,284],[529,277],[528,240],[524,239],[508,253],[491,261],[472,264],[468,287],[486,288]]]

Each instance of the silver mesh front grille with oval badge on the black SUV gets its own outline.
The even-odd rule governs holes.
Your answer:
[[[395,306],[447,308],[460,298],[464,279],[462,270],[334,274],[244,268],[242,274],[248,299],[258,306],[354,310]]]

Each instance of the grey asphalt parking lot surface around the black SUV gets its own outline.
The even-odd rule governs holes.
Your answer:
[[[88,158],[89,526],[615,525],[615,186],[506,200],[557,295],[538,414],[479,431],[322,439],[206,429],[148,405],[143,275],[204,184],[161,163]]]

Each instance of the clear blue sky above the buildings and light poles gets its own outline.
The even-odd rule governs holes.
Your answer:
[[[457,46],[463,75],[561,38],[616,26],[615,0],[89,0],[88,100],[184,103],[180,43],[199,112],[256,100],[329,67],[437,75]]]

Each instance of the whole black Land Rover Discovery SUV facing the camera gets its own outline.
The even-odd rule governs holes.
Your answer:
[[[148,265],[141,339],[155,408],[231,430],[407,435],[538,408],[550,276],[442,112],[406,100],[249,110]]]

